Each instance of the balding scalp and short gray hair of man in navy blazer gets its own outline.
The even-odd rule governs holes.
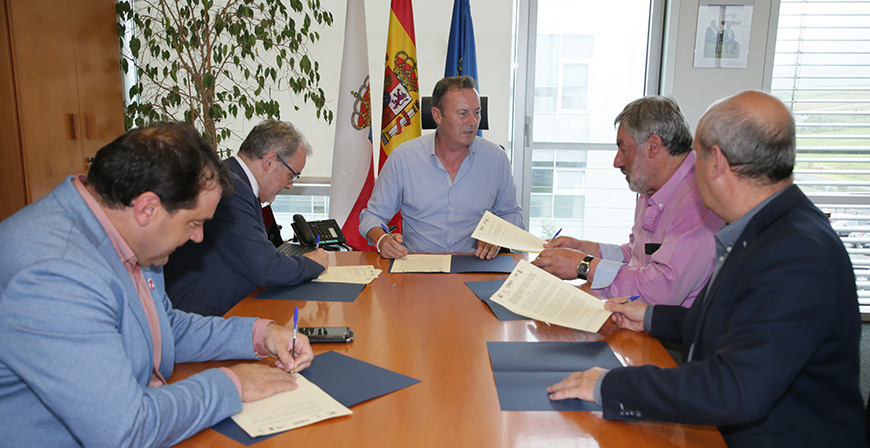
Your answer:
[[[746,91],[717,101],[701,117],[698,156],[714,145],[740,177],[774,184],[791,177],[795,164],[794,118],[777,98]]]

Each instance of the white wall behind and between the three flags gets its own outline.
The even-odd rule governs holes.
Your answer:
[[[354,0],[361,1],[361,0]],[[418,81],[420,96],[430,96],[435,83],[444,76],[447,57],[447,39],[453,13],[453,0],[413,0],[414,27],[417,39]],[[335,21],[320,31],[321,40],[310,48],[320,62],[320,86],[326,92],[327,105],[335,111],[341,73],[342,46],[346,0],[322,0],[332,12]],[[390,14],[389,0],[366,0],[366,26],[368,30],[369,71],[371,73],[372,129],[377,145],[381,121],[381,95],[383,93],[384,56],[387,47],[387,26]],[[489,97],[489,126],[484,137],[508,146],[508,109],[510,100],[511,16],[512,2],[506,0],[471,0],[471,15],[477,44],[480,94]],[[305,177],[329,177],[332,170],[332,149],[335,123],[328,125],[314,116],[314,108],[296,101],[300,111],[293,109],[289,94],[275,96],[281,104],[281,119],[298,125],[314,149],[308,159]],[[233,125],[242,135],[257,124],[238,122]],[[226,146],[238,149],[241,140],[234,139]],[[377,150],[377,146],[375,147]]]

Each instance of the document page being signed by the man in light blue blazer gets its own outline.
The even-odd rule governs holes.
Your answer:
[[[296,384],[296,390],[242,403],[233,421],[249,436],[259,437],[353,414],[304,376],[296,374]]]

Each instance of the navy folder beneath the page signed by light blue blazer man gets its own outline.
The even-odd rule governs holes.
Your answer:
[[[317,355],[311,367],[300,374],[346,407],[420,382],[409,376],[332,351]],[[212,429],[246,446],[281,434],[253,438],[231,417],[212,426]]]

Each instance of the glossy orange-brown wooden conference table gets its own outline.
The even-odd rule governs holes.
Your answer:
[[[667,351],[647,334],[617,329],[610,322],[598,333],[586,333],[534,320],[499,321],[465,282],[507,274],[390,274],[389,260],[377,253],[329,257],[331,265],[371,264],[383,273],[353,303],[261,300],[252,294],[227,315],[292,325],[298,305],[300,326],[349,326],[354,331],[349,344],[313,344],[315,354],[334,350],[420,383],[358,404],[351,408],[353,415],[284,432],[256,448],[725,446],[714,427],[608,421],[600,412],[499,408],[487,341],[604,340],[631,365],[674,366]],[[237,362],[179,364],[172,379]],[[242,445],[206,429],[179,446]]]

